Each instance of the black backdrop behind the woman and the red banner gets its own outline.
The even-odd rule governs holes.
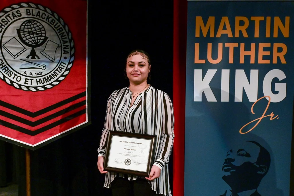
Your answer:
[[[90,0],[88,25],[92,124],[30,151],[31,196],[111,195],[103,188],[105,175],[97,169],[97,148],[108,97],[129,85],[124,68],[130,51],[150,54],[149,83],[172,99],[173,1]],[[4,146],[7,180],[18,183],[19,196],[25,196],[25,149]],[[170,177],[172,161],[171,156]]]

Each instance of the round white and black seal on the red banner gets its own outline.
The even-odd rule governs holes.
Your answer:
[[[61,83],[74,62],[69,27],[50,9],[21,3],[0,12],[0,78],[24,91]]]

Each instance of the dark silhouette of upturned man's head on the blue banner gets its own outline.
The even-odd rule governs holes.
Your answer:
[[[230,186],[220,196],[260,196],[257,188],[268,173],[270,153],[255,141],[246,141],[227,152],[222,170]]]

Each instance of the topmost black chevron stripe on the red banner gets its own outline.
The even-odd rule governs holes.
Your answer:
[[[86,91],[83,92],[83,93],[80,93],[80,94],[78,94],[78,95],[75,95],[75,96],[73,96],[73,97],[70,97],[70,98],[68,98],[68,99],[65,99],[65,100],[63,100],[63,101],[61,101],[61,102],[59,102],[59,103],[55,103],[55,104],[53,104],[53,105],[50,105],[49,107],[44,108],[44,109],[39,110],[39,111],[36,111],[36,112],[30,112],[30,111],[28,111],[28,110],[25,110],[25,109],[23,109],[23,108],[19,108],[19,107],[15,106],[15,105],[12,105],[12,104],[10,104],[10,103],[6,103],[5,101],[1,101],[1,100],[0,100],[0,105],[3,106],[3,107],[5,107],[5,108],[8,108],[8,109],[14,110],[14,111],[16,111],[16,112],[18,112],[18,113],[21,113],[21,114],[24,114],[24,115],[27,115],[27,116],[29,116],[29,117],[34,118],[34,117],[36,117],[36,116],[39,116],[39,115],[42,115],[42,114],[44,114],[44,113],[47,113],[47,112],[49,112],[49,111],[51,111],[51,110],[54,110],[54,109],[56,109],[56,108],[58,108],[58,107],[60,107],[60,106],[62,106],[62,105],[65,105],[65,104],[67,104],[67,103],[71,103],[72,101],[77,100],[77,99],[79,99],[79,98],[82,98],[82,97],[84,97],[84,96],[86,96]]]

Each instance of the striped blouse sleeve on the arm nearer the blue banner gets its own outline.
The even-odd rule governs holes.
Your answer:
[[[153,165],[158,166],[162,170],[164,165],[168,163],[168,159],[171,155],[171,150],[173,147],[174,114],[173,104],[166,93],[163,94],[163,100],[161,104],[163,104],[162,130],[158,155]]]

